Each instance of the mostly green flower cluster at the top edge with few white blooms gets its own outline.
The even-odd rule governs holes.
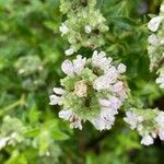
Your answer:
[[[108,31],[105,19],[95,9],[96,0],[61,0],[60,11],[67,14],[67,20],[59,27],[61,36],[66,36],[71,44],[66,50],[70,56],[81,47],[91,49],[104,44],[104,34]]]

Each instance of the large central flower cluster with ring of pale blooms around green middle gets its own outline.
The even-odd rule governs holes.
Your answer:
[[[91,121],[97,130],[110,129],[115,115],[127,98],[128,87],[121,75],[126,66],[113,65],[104,51],[94,51],[92,58],[77,56],[61,66],[67,74],[61,87],[54,87],[50,105],[60,105],[59,117],[70,120],[72,128],[82,129],[82,121]]]

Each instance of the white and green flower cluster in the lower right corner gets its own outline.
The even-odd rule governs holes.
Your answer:
[[[125,121],[131,129],[137,129],[142,137],[141,144],[150,145],[159,136],[164,140],[164,113],[157,109],[130,108],[126,113]]]

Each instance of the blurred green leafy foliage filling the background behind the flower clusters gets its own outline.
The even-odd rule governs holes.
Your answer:
[[[162,109],[164,93],[149,72],[147,55],[147,14],[157,13],[160,3],[99,0],[97,8],[109,26],[102,49],[129,68],[132,103]],[[110,131],[98,132],[90,124],[79,131],[49,106],[48,95],[63,77],[60,63],[68,47],[59,33],[63,20],[59,0],[0,0],[0,137],[17,134],[0,150],[0,163],[163,163],[163,144],[156,140],[150,148],[140,145],[138,134],[120,118],[124,114]]]

